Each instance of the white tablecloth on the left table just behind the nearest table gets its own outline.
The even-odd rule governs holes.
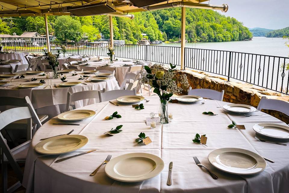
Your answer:
[[[51,72],[49,73],[51,74]],[[79,84],[77,86],[73,87],[60,87],[57,86],[55,88],[53,85],[61,83],[60,78],[58,79],[46,79],[45,76],[39,76],[39,75],[25,75],[24,79],[13,79],[9,78],[7,81],[11,81],[13,86],[8,87],[0,87],[0,96],[16,96],[16,97],[24,97],[29,96],[33,107],[37,109],[38,114],[45,114],[49,115],[49,117],[54,117],[55,115],[58,115],[61,113],[66,106],[67,101],[67,92],[75,93],[83,90],[102,90],[105,88],[107,91],[109,90],[115,90],[120,89],[120,87],[117,84],[117,81],[114,77],[112,77],[110,80],[102,81],[102,82],[85,82],[84,80],[78,80],[80,78],[80,74],[76,76],[72,76],[72,74],[66,74],[67,75],[67,81],[79,81],[83,82],[85,84]],[[91,75],[91,74],[85,74],[85,75]],[[91,75],[92,77],[95,76],[94,74]],[[33,82],[26,82],[26,80],[31,80],[31,78],[37,78],[37,81]],[[52,77],[52,75],[50,76]],[[39,83],[40,80],[45,80],[45,84],[43,86],[33,88],[33,89],[19,89],[14,88],[15,86],[19,84],[26,84],[26,83]],[[48,86],[44,89],[45,86]],[[95,102],[99,102],[98,96],[96,96],[96,99],[87,99],[83,101],[76,101],[75,107],[81,107],[88,104],[93,104]],[[64,105],[61,105],[64,104]]]

